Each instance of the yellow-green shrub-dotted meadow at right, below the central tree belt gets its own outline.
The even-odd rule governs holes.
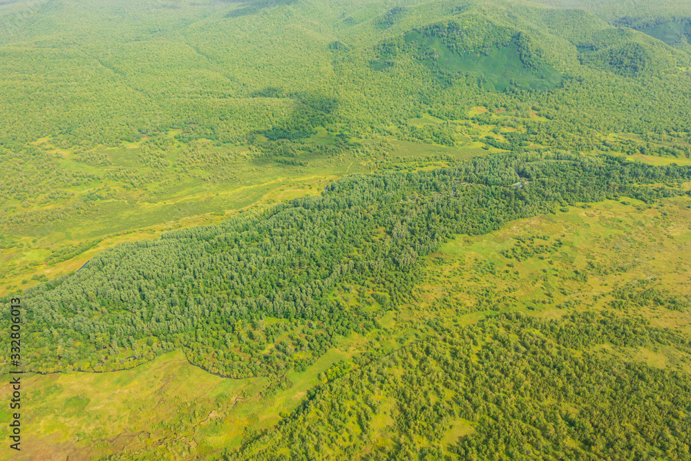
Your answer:
[[[482,238],[460,236],[430,258],[427,294],[451,294],[472,307],[477,303],[473,289],[487,288],[498,299],[509,297],[504,309],[529,309],[544,317],[559,317],[566,310],[557,306],[567,301],[578,302],[579,310],[601,309],[612,301],[614,288],[627,284],[635,290],[651,283],[670,296],[691,297],[691,200],[672,198],[652,208],[630,198],[622,202],[627,205],[607,201],[518,220]],[[536,238],[536,245],[560,238],[564,246],[544,259],[516,261],[500,253],[511,250],[516,236],[548,237]],[[587,281],[578,280],[576,270],[585,272]],[[651,305],[627,313],[691,334],[691,312]]]

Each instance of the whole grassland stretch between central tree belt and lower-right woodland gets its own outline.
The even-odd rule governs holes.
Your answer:
[[[263,444],[268,444],[263,453],[276,450],[287,455],[288,445],[283,451],[281,442],[266,440],[282,440],[279,435],[285,437],[298,413],[302,424],[323,426],[319,416],[305,413],[307,402],[333,405],[337,398],[356,408],[357,399],[368,395],[369,391],[348,387],[348,375],[360,373],[360,368],[371,373],[378,362],[404,353],[395,351],[435,340],[444,328],[463,335],[506,312],[522,312],[540,321],[594,312],[630,322],[646,331],[644,340],[627,343],[605,337],[585,346],[562,343],[563,350],[578,357],[595,354],[618,367],[634,364],[642,370],[663,370],[691,382],[691,350],[683,346],[691,339],[689,198],[661,200],[652,207],[623,198],[507,223],[484,236],[457,236],[428,257],[423,272],[414,303],[387,311],[380,328],[367,335],[341,337],[310,368],[287,373],[278,386],[265,377],[211,375],[189,364],[181,352],[131,370],[28,375],[23,403],[26,449],[21,459],[86,460],[120,453],[116,459],[172,460],[231,452],[251,459]],[[654,335],[672,335],[681,343],[656,341],[651,339]],[[481,346],[482,341],[477,348]],[[477,360],[457,357],[468,359]],[[481,359],[487,360],[498,360],[499,366],[502,359]],[[413,371],[399,362],[390,365],[388,373],[404,377]],[[335,397],[339,386],[351,391],[345,401]],[[401,386],[405,388],[399,383],[397,392]],[[4,385],[0,398],[9,392]],[[399,443],[406,408],[395,395],[376,397],[380,411],[365,426],[352,420],[358,429],[347,432],[356,437],[367,434],[354,459]],[[431,403],[439,397],[428,398]],[[7,418],[7,412],[0,414]],[[453,446],[482,430],[482,422],[464,416],[444,420],[446,429],[436,446],[446,456],[455,457]],[[276,426],[281,420],[285,422]],[[262,438],[265,431],[269,439]],[[331,450],[337,459],[341,452],[335,448],[323,457]]]

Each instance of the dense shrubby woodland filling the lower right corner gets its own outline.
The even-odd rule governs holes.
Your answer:
[[[368,460],[691,458],[691,378],[589,350],[688,352],[688,339],[601,314],[502,314],[425,329],[426,339],[326,384],[230,459],[343,459],[365,448]],[[372,440],[386,419],[387,438]],[[471,435],[445,446],[450,429]]]

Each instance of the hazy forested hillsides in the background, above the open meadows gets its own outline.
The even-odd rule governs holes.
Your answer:
[[[405,130],[420,111],[459,120],[476,105],[544,110],[579,138],[689,128],[688,53],[539,3],[10,2],[0,135],[10,151],[48,137],[97,152],[171,129],[233,143]]]

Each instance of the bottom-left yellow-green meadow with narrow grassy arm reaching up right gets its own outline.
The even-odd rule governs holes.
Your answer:
[[[209,453],[237,447],[248,426],[261,430],[280,422],[321,383],[319,373],[365,343],[361,335],[343,339],[309,370],[287,373],[290,388],[267,397],[269,378],[218,377],[189,364],[182,352],[130,370],[24,375],[22,423],[30,429],[15,459],[89,459],[142,449],[153,450],[155,459],[176,459],[167,445],[180,450],[193,442]],[[10,392],[2,386],[0,398]],[[7,411],[0,417],[8,420]]]

